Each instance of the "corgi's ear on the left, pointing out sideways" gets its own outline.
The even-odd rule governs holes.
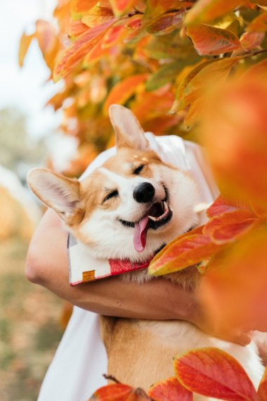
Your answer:
[[[44,168],[27,174],[27,183],[37,198],[67,222],[80,209],[79,181]]]

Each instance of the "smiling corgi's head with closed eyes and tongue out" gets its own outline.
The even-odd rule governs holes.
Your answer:
[[[197,191],[150,149],[130,110],[113,105],[110,120],[117,154],[84,181],[33,169],[28,184],[93,255],[142,261],[196,224]]]

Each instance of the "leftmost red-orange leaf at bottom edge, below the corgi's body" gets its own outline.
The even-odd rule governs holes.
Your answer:
[[[96,390],[88,401],[150,401],[150,397],[141,388],[115,383]]]

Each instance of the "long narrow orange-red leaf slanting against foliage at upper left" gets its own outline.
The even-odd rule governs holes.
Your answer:
[[[108,21],[107,23],[103,23],[98,25],[97,27],[93,27],[75,40],[70,47],[65,49],[58,59],[56,66],[53,71],[53,77],[55,81],[58,79],[65,77],[68,72],[70,72],[73,66],[81,60],[86,53],[89,53],[93,46],[95,46],[100,39],[104,36],[105,32],[107,32],[108,28],[115,22],[115,18],[113,20]]]

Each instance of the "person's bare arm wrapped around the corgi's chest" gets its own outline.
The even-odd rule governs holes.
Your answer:
[[[60,298],[99,314],[136,319],[183,319],[204,331],[249,343],[241,333],[214,330],[204,317],[194,292],[155,279],[138,284],[110,277],[89,284],[70,286],[67,262],[67,231],[56,212],[47,210],[34,233],[26,260],[27,279],[56,293]]]

